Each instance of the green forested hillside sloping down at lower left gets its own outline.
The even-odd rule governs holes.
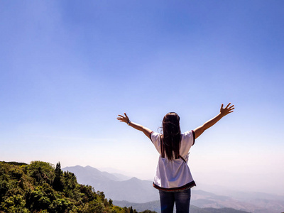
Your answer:
[[[0,212],[136,212],[117,207],[104,192],[78,184],[73,173],[42,161],[0,162]],[[145,211],[150,212],[150,211]]]

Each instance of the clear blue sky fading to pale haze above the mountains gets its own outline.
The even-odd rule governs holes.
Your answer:
[[[197,185],[283,194],[283,8],[280,0],[0,1],[0,160],[151,178],[158,153],[117,114],[157,131],[176,111],[187,131],[232,102],[234,113],[191,149]]]

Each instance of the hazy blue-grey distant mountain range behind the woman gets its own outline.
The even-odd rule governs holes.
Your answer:
[[[152,181],[130,178],[119,173],[101,172],[90,166],[77,165],[62,170],[74,173],[78,182],[84,185],[92,185],[96,191],[104,192],[104,195],[114,200],[116,205],[127,207],[130,204],[138,211],[149,209],[160,212],[158,190],[155,190],[152,186]],[[255,192],[229,191],[225,196],[192,188],[190,204],[192,204],[191,212],[199,213],[207,213],[208,211],[229,213],[234,212],[235,209],[239,210],[239,213],[241,213],[240,211],[253,213],[284,212],[283,196]]]

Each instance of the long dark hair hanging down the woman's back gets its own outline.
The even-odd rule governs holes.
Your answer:
[[[175,112],[169,112],[164,116],[162,125],[162,157],[166,154],[169,160],[180,158],[180,116]]]

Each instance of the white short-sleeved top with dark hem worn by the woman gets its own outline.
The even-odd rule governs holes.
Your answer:
[[[168,160],[166,157],[161,157],[160,136],[160,133],[151,133],[151,141],[160,153],[153,186],[158,190],[165,191],[180,191],[194,187],[195,181],[192,179],[190,168],[187,165],[190,148],[195,143],[194,131],[186,131],[181,134],[180,155],[186,163],[182,158]]]

